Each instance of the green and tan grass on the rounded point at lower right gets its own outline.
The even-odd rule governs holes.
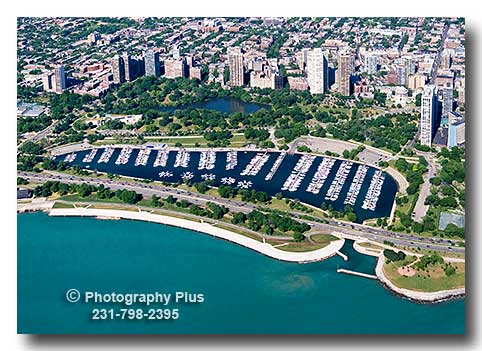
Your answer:
[[[395,286],[414,291],[435,292],[465,286],[465,263],[452,262],[457,271],[451,276],[445,274],[441,264],[430,265],[424,271],[417,270],[412,277],[398,273],[399,267],[410,264],[414,260],[414,256],[408,256],[404,261],[385,263],[383,273]]]

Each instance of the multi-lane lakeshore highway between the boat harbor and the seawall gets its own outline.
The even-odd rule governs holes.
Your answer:
[[[152,195],[158,195],[162,197],[167,197],[172,195],[178,199],[184,199],[196,205],[205,205],[206,202],[210,201],[218,205],[226,206],[228,209],[234,212],[249,213],[258,208],[257,205],[243,203],[241,201],[236,201],[233,199],[218,198],[206,194],[198,194],[190,191],[176,189],[171,187],[165,187],[161,185],[152,185],[144,183],[134,183],[124,180],[110,180],[110,179],[100,179],[87,176],[74,176],[59,172],[49,171],[44,173],[28,173],[28,172],[18,172],[19,177],[28,179],[34,182],[46,182],[48,180],[60,181],[69,184],[80,184],[87,183],[95,186],[103,184],[112,190],[118,189],[128,189],[136,191],[142,195],[150,197]],[[259,207],[263,207],[262,205]],[[334,219],[325,219],[327,223],[319,223],[316,221],[306,220],[300,218],[306,214],[300,212],[292,212],[293,217],[295,217],[300,222],[305,222],[311,225],[314,229],[323,230],[326,232],[346,232],[350,235],[355,235],[360,238],[367,238],[379,242],[385,240],[393,242],[394,244],[401,246],[408,246],[413,248],[420,248],[426,250],[437,250],[443,252],[465,252],[465,248],[453,246],[455,241],[445,238],[427,238],[420,237],[410,234],[401,234],[391,232],[385,229],[373,228],[363,224],[356,224],[351,222],[345,222]]]

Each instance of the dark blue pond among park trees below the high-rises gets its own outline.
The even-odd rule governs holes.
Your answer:
[[[181,105],[176,107],[160,107],[159,111],[174,112],[176,110],[184,109],[205,109],[215,110],[227,114],[234,112],[254,113],[262,108],[271,110],[271,106],[267,104],[260,104],[257,102],[244,102],[235,98],[216,98],[207,101],[196,102],[188,105]]]

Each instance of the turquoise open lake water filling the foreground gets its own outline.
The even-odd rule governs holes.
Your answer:
[[[336,273],[373,273],[375,260],[347,242],[344,262],[296,264],[238,245],[154,223],[20,214],[19,333],[463,333],[465,302],[418,304],[377,281]],[[65,292],[202,293],[176,321],[90,319],[95,307]],[[115,306],[122,308],[124,306]],[[133,306],[137,308],[138,306]]]

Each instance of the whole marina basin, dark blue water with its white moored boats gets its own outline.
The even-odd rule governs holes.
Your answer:
[[[134,151],[136,157],[130,157]],[[157,154],[155,157],[150,157],[153,152]],[[74,153],[77,156],[72,160]],[[227,185],[239,189],[255,189],[265,191],[270,196],[285,191],[284,196],[317,207],[321,206],[322,202],[331,202],[335,209],[351,205],[360,221],[382,215],[388,216],[396,191],[396,183],[387,175],[385,183],[387,183],[386,179],[390,181],[387,188],[383,190],[386,195],[377,195],[377,191],[382,191],[385,184],[381,180],[378,182],[374,180],[374,185],[366,194],[367,179],[370,180],[372,174],[369,173],[371,167],[310,154],[295,153],[293,155],[284,151],[264,150],[242,152],[240,150],[216,151],[213,149],[194,151],[184,148],[173,150],[165,146],[159,149],[108,146],[104,149],[87,149],[74,153],[60,155],[57,159],[66,162],[71,160],[68,162],[69,165],[79,165],[84,168],[94,168],[106,173],[135,178],[166,182],[207,181],[210,182],[210,186],[214,187]],[[100,157],[96,156],[97,154],[100,154]],[[114,154],[115,157],[112,158]],[[190,162],[191,157],[194,157],[193,162]],[[92,162],[96,162],[95,166],[91,165]],[[313,169],[315,164],[316,169]],[[339,167],[337,167],[338,164]],[[123,168],[118,168],[121,165]],[[141,165],[142,167],[139,167]],[[353,171],[354,176],[350,181],[350,186],[345,186],[348,179],[351,179],[348,176],[352,166],[357,167],[356,172]],[[269,169],[262,172],[265,168]],[[383,178],[377,174],[374,176],[375,179]],[[244,177],[249,177],[249,179]],[[304,185],[306,178],[309,181]],[[378,185],[375,186],[375,183]],[[327,188],[325,190],[327,191],[326,197],[323,188]],[[362,196],[367,197],[364,206],[362,206],[362,201],[357,201]],[[382,204],[378,201],[378,197],[384,199]],[[340,198],[343,201],[337,201]],[[387,201],[392,202],[387,204]]]

